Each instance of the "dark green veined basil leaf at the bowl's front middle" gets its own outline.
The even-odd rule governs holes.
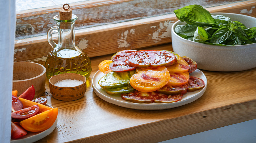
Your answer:
[[[222,27],[213,33],[211,38],[211,43],[220,44],[225,40],[227,40],[231,34],[232,34],[232,31],[229,30],[228,27]]]

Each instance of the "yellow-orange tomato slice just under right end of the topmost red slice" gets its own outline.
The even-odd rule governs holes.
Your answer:
[[[189,65],[185,60],[180,58],[175,64],[166,66],[166,68],[170,73],[187,72],[189,70]]]

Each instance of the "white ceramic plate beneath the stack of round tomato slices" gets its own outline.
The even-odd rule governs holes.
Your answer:
[[[162,109],[170,109],[170,108],[174,108],[174,107],[179,107],[188,103],[191,103],[195,100],[197,100],[199,97],[201,97],[203,95],[203,93],[206,90],[207,87],[207,78],[206,76],[203,74],[202,71],[200,70],[196,70],[194,72],[192,72],[190,75],[194,76],[194,77],[198,77],[201,78],[202,80],[204,80],[205,82],[205,86],[200,89],[197,90],[195,92],[187,92],[186,94],[183,95],[183,97],[181,98],[181,100],[177,101],[177,102],[172,102],[172,103],[133,103],[130,101],[125,101],[121,98],[121,96],[113,96],[113,95],[109,95],[105,92],[104,89],[102,89],[99,84],[98,81],[101,77],[103,77],[105,74],[102,73],[101,71],[97,71],[95,73],[95,75],[93,76],[92,79],[92,86],[93,86],[93,90],[94,92],[103,100],[121,106],[121,107],[125,107],[125,108],[131,108],[131,109],[138,109],[138,110],[162,110]]]

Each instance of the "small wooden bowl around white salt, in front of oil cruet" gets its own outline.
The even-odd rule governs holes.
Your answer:
[[[59,87],[54,84],[64,79],[83,81],[81,85],[74,87]],[[86,92],[86,78],[83,75],[75,73],[63,73],[54,75],[49,79],[50,92],[54,98],[63,101],[72,101],[80,99]]]

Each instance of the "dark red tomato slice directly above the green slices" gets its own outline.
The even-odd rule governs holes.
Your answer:
[[[109,69],[115,72],[124,72],[135,70],[136,67],[129,66],[122,60],[116,60],[109,64]]]

